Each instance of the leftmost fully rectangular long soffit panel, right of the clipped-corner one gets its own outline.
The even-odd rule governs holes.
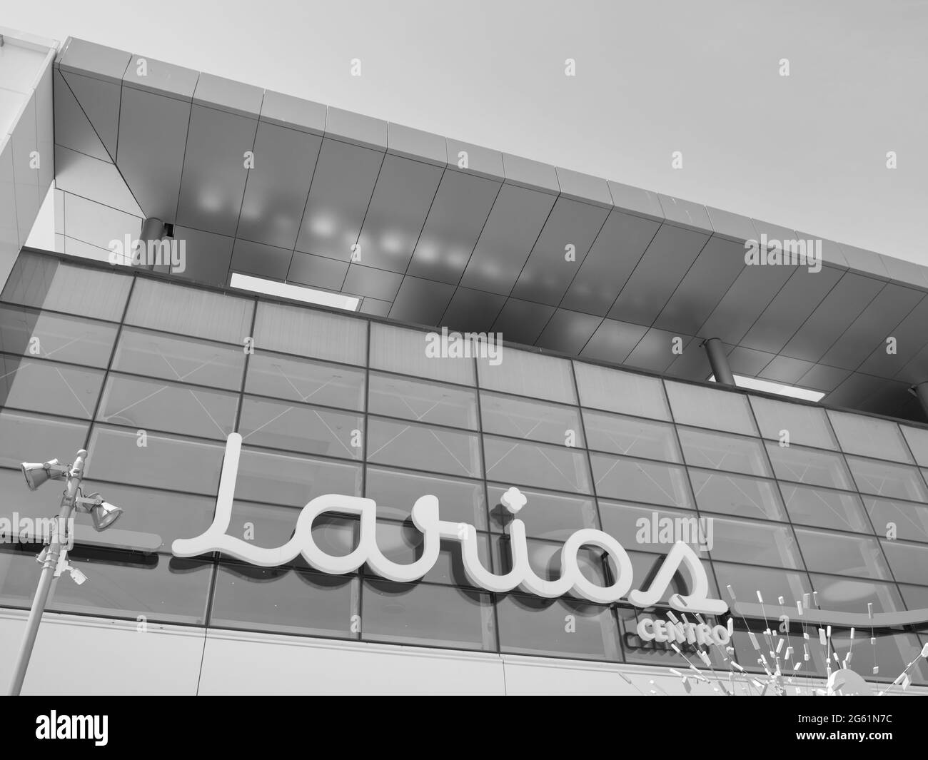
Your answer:
[[[257,119],[196,104],[190,110],[177,224],[234,236]]]

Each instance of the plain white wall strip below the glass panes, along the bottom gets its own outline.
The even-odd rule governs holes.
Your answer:
[[[0,693],[26,612],[0,609]],[[59,652],[69,656],[62,658]],[[694,694],[719,693],[712,683]],[[880,687],[883,689],[884,687]],[[663,667],[431,650],[48,613],[24,694],[686,693]],[[912,687],[909,693],[928,694]]]

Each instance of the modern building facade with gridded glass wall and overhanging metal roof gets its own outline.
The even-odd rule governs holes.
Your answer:
[[[157,61],[140,82],[128,53],[19,43],[35,75],[0,146],[13,167],[0,183],[13,209],[0,225],[4,651],[16,651],[39,573],[41,545],[20,526],[58,506],[55,486],[27,490],[20,463],[85,448],[84,494],[124,510],[102,533],[74,526],[68,559],[85,581],[54,582],[26,693],[62,679],[79,693],[758,693],[753,680],[775,670],[807,691],[839,669],[874,689],[928,689],[928,425],[903,393],[924,364],[925,341],[907,337],[928,304],[922,274],[904,280],[904,263],[836,243],[817,269],[752,267],[741,225],[755,220],[698,207],[702,221],[688,201],[553,167],[550,186],[540,164],[509,156],[496,177],[490,151],[441,138],[436,158],[434,135],[385,122],[380,150],[366,117],[320,107],[316,129],[317,104],[268,91],[254,110],[246,85],[187,81]],[[157,130],[152,98],[168,114]],[[212,142],[188,143],[171,169],[167,143],[157,159],[139,148],[139,135],[170,140],[169,124]],[[223,232],[238,179],[211,151],[235,129],[252,130],[231,150],[235,171],[242,144],[257,163],[246,156],[254,174]],[[262,174],[270,144],[293,174]],[[56,251],[26,245],[51,182],[18,168],[35,149],[55,156]],[[451,161],[461,152],[479,167]],[[363,202],[353,183],[369,186]],[[344,238],[329,223],[354,225],[350,253],[329,256]],[[106,240],[156,228],[186,243],[182,262],[112,261]],[[554,268],[565,240],[581,261],[569,277]],[[250,293],[243,275],[290,290]],[[298,303],[301,287],[351,305]],[[740,375],[825,399],[709,381],[700,342],[722,333]],[[890,333],[899,358],[883,351]],[[238,436],[220,532],[271,560],[185,556],[185,540],[221,522]],[[320,572],[298,552],[274,560],[303,535],[304,505],[329,495],[376,503],[367,529],[392,562],[428,552],[414,522],[423,496],[462,533],[413,580],[363,561]],[[313,543],[352,554],[364,520],[329,509]],[[572,536],[595,531],[622,548],[578,547],[586,584],[625,577],[659,595],[636,606],[625,593],[590,599],[580,582],[546,595],[475,581],[465,535],[471,561],[505,575],[517,521],[538,587],[556,584]],[[667,559],[678,542],[693,565]],[[688,617],[679,599],[700,596],[694,567],[702,597],[727,612]],[[724,641],[666,640],[654,624],[677,618]]]

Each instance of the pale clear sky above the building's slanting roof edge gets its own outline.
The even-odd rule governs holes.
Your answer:
[[[43,0],[3,23],[928,264],[928,0]]]

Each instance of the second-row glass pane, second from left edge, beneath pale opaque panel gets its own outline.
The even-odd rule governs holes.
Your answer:
[[[241,389],[244,367],[243,348],[136,328],[122,329],[112,366],[134,375],[195,382],[228,391]]]

